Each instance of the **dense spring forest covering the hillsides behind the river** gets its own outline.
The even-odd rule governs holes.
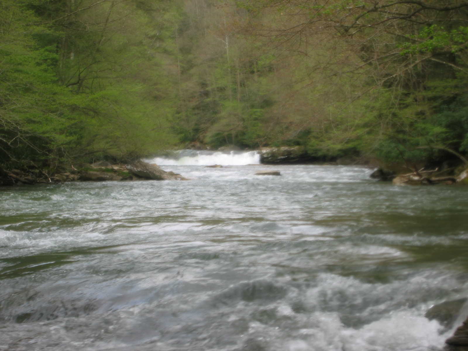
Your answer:
[[[159,150],[464,161],[468,2],[2,0],[0,172]]]

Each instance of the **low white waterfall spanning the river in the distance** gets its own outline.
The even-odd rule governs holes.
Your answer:
[[[155,156],[144,161],[158,166],[241,166],[260,164],[260,154],[256,151],[208,151],[178,150],[166,155]]]

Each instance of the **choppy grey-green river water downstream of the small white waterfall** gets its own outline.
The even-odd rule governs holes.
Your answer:
[[[1,351],[443,347],[424,313],[466,295],[468,188],[164,168],[191,180],[0,189]]]

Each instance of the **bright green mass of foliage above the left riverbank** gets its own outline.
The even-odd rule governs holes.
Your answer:
[[[173,50],[176,4],[157,27],[152,12],[132,2],[76,6],[0,4],[0,161],[9,167],[92,154],[140,157],[176,139],[171,78],[161,70],[161,55]]]

